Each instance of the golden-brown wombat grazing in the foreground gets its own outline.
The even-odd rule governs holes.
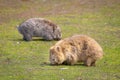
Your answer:
[[[75,35],[58,41],[50,48],[51,64],[70,64],[83,62],[86,66],[95,66],[103,57],[101,46],[86,35]]]

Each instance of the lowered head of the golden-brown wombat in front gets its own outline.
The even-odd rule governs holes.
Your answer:
[[[51,64],[62,64],[64,62],[64,54],[60,46],[53,46],[50,48],[50,63]]]

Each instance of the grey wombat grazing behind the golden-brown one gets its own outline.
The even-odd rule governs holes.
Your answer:
[[[32,37],[42,37],[44,40],[60,40],[62,37],[60,27],[44,18],[28,19],[17,28],[25,41],[31,41]]]

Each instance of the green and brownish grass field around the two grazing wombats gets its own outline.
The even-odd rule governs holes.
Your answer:
[[[1,0],[0,80],[119,80],[120,1],[79,1]],[[25,19],[41,16],[58,24],[63,38],[74,34],[94,38],[104,50],[103,59],[96,67],[49,65],[49,48],[57,41],[25,42],[16,29]]]

